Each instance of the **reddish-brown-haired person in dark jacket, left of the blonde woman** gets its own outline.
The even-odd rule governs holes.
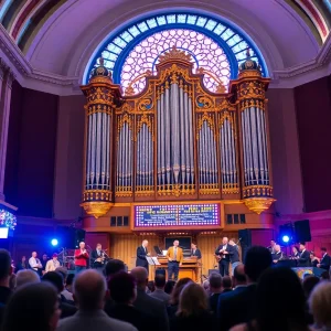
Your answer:
[[[137,281],[137,298],[134,302],[134,306],[139,311],[148,312],[158,320],[158,324],[156,325],[157,330],[169,330],[166,305],[146,293],[146,286],[148,282],[148,274],[146,268],[136,267],[131,270],[131,275]]]

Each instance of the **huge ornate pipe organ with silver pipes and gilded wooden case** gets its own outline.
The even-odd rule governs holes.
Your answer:
[[[146,88],[122,93],[103,65],[82,86],[87,98],[82,206],[106,215],[116,203],[239,201],[259,214],[275,201],[265,92],[269,79],[252,60],[228,92],[203,85],[191,56],[159,56]]]

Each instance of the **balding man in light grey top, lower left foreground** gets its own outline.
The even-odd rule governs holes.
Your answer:
[[[76,314],[60,321],[57,331],[137,331],[122,321],[109,318],[104,309],[106,280],[95,270],[85,270],[76,276],[74,297],[79,310]]]

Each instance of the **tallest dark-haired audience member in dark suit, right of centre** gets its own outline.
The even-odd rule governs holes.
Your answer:
[[[218,298],[217,316],[221,331],[227,331],[236,324],[247,323],[256,318],[256,282],[271,264],[271,254],[268,248],[253,246],[247,250],[244,268],[248,285],[221,295]]]

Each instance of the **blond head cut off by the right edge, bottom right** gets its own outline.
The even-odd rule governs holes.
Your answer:
[[[313,320],[319,328],[331,328],[331,282],[322,281],[314,287],[309,298]]]

